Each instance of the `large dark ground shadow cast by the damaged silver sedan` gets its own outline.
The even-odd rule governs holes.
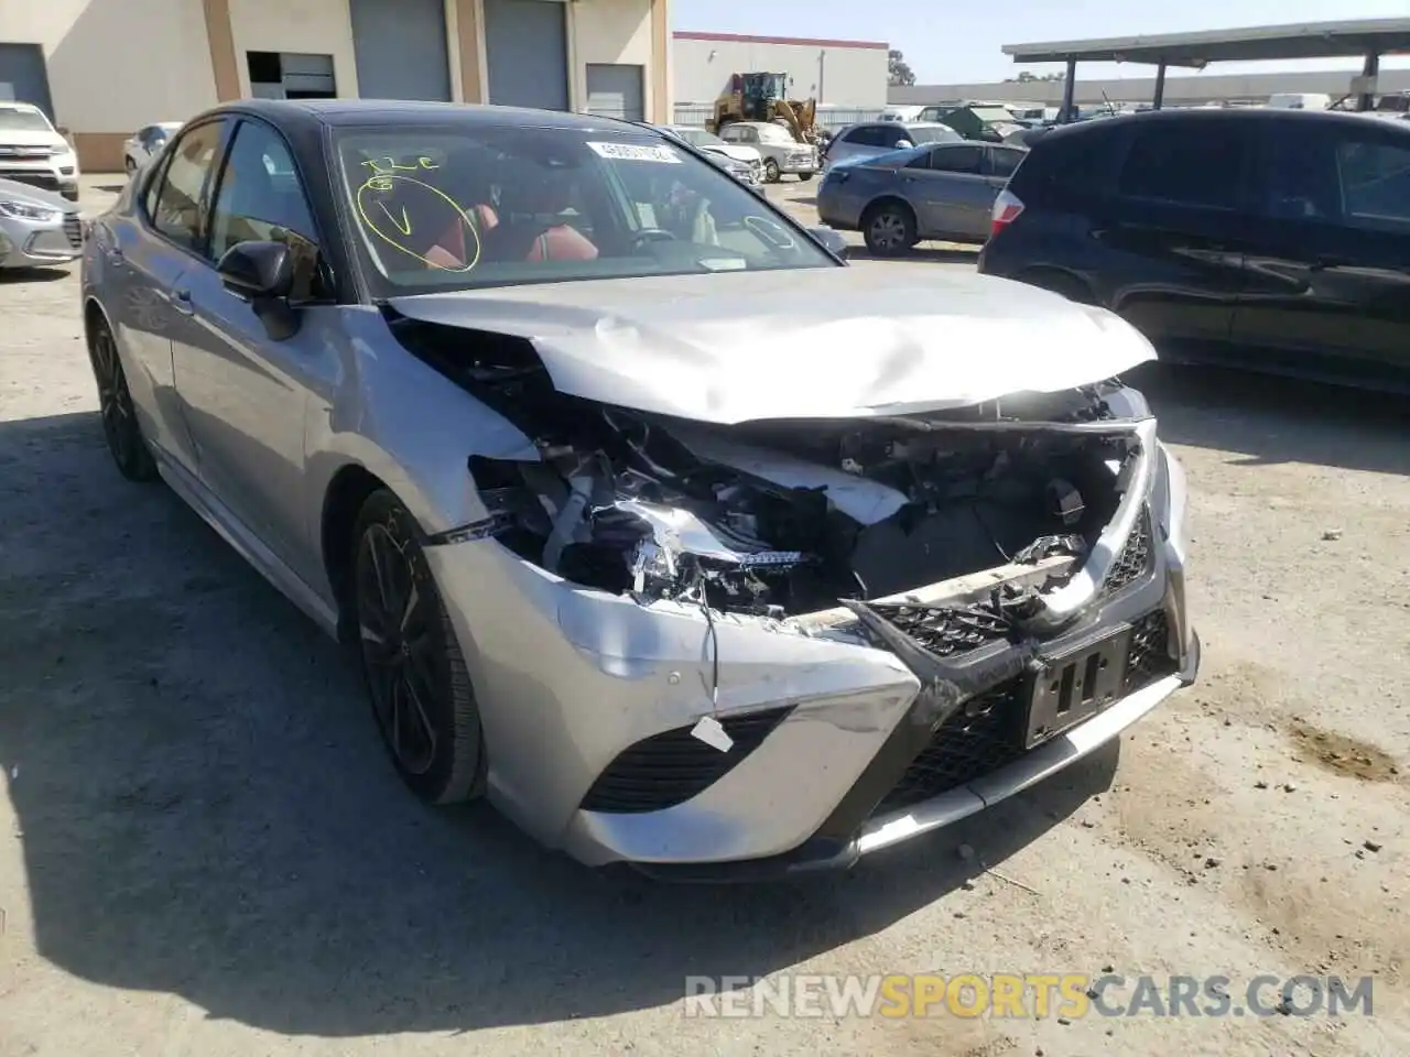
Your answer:
[[[416,802],[348,658],[168,489],[121,481],[96,414],[0,424],[0,764],[38,954],[210,1018],[347,1037],[668,1005],[942,899],[1117,765],[843,875],[622,879]]]

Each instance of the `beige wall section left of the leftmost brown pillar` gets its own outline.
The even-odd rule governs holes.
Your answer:
[[[216,103],[197,0],[0,0],[0,39],[44,47],[55,117],[75,135],[127,137]]]

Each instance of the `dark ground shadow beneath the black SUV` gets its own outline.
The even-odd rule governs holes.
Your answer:
[[[1410,475],[1410,397],[1217,366],[1145,364],[1127,381],[1175,444],[1238,452],[1234,465],[1306,462]]]

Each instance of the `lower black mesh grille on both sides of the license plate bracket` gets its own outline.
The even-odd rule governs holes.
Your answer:
[[[1163,609],[1132,626],[1122,693],[1172,675],[1170,624]],[[909,808],[1014,762],[1025,754],[1028,682],[1022,678],[970,698],[931,736],[873,815]]]

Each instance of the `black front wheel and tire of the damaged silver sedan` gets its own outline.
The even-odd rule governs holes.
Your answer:
[[[402,781],[427,803],[455,803],[478,792],[479,709],[417,536],[396,496],[368,496],[352,554],[362,675]]]

